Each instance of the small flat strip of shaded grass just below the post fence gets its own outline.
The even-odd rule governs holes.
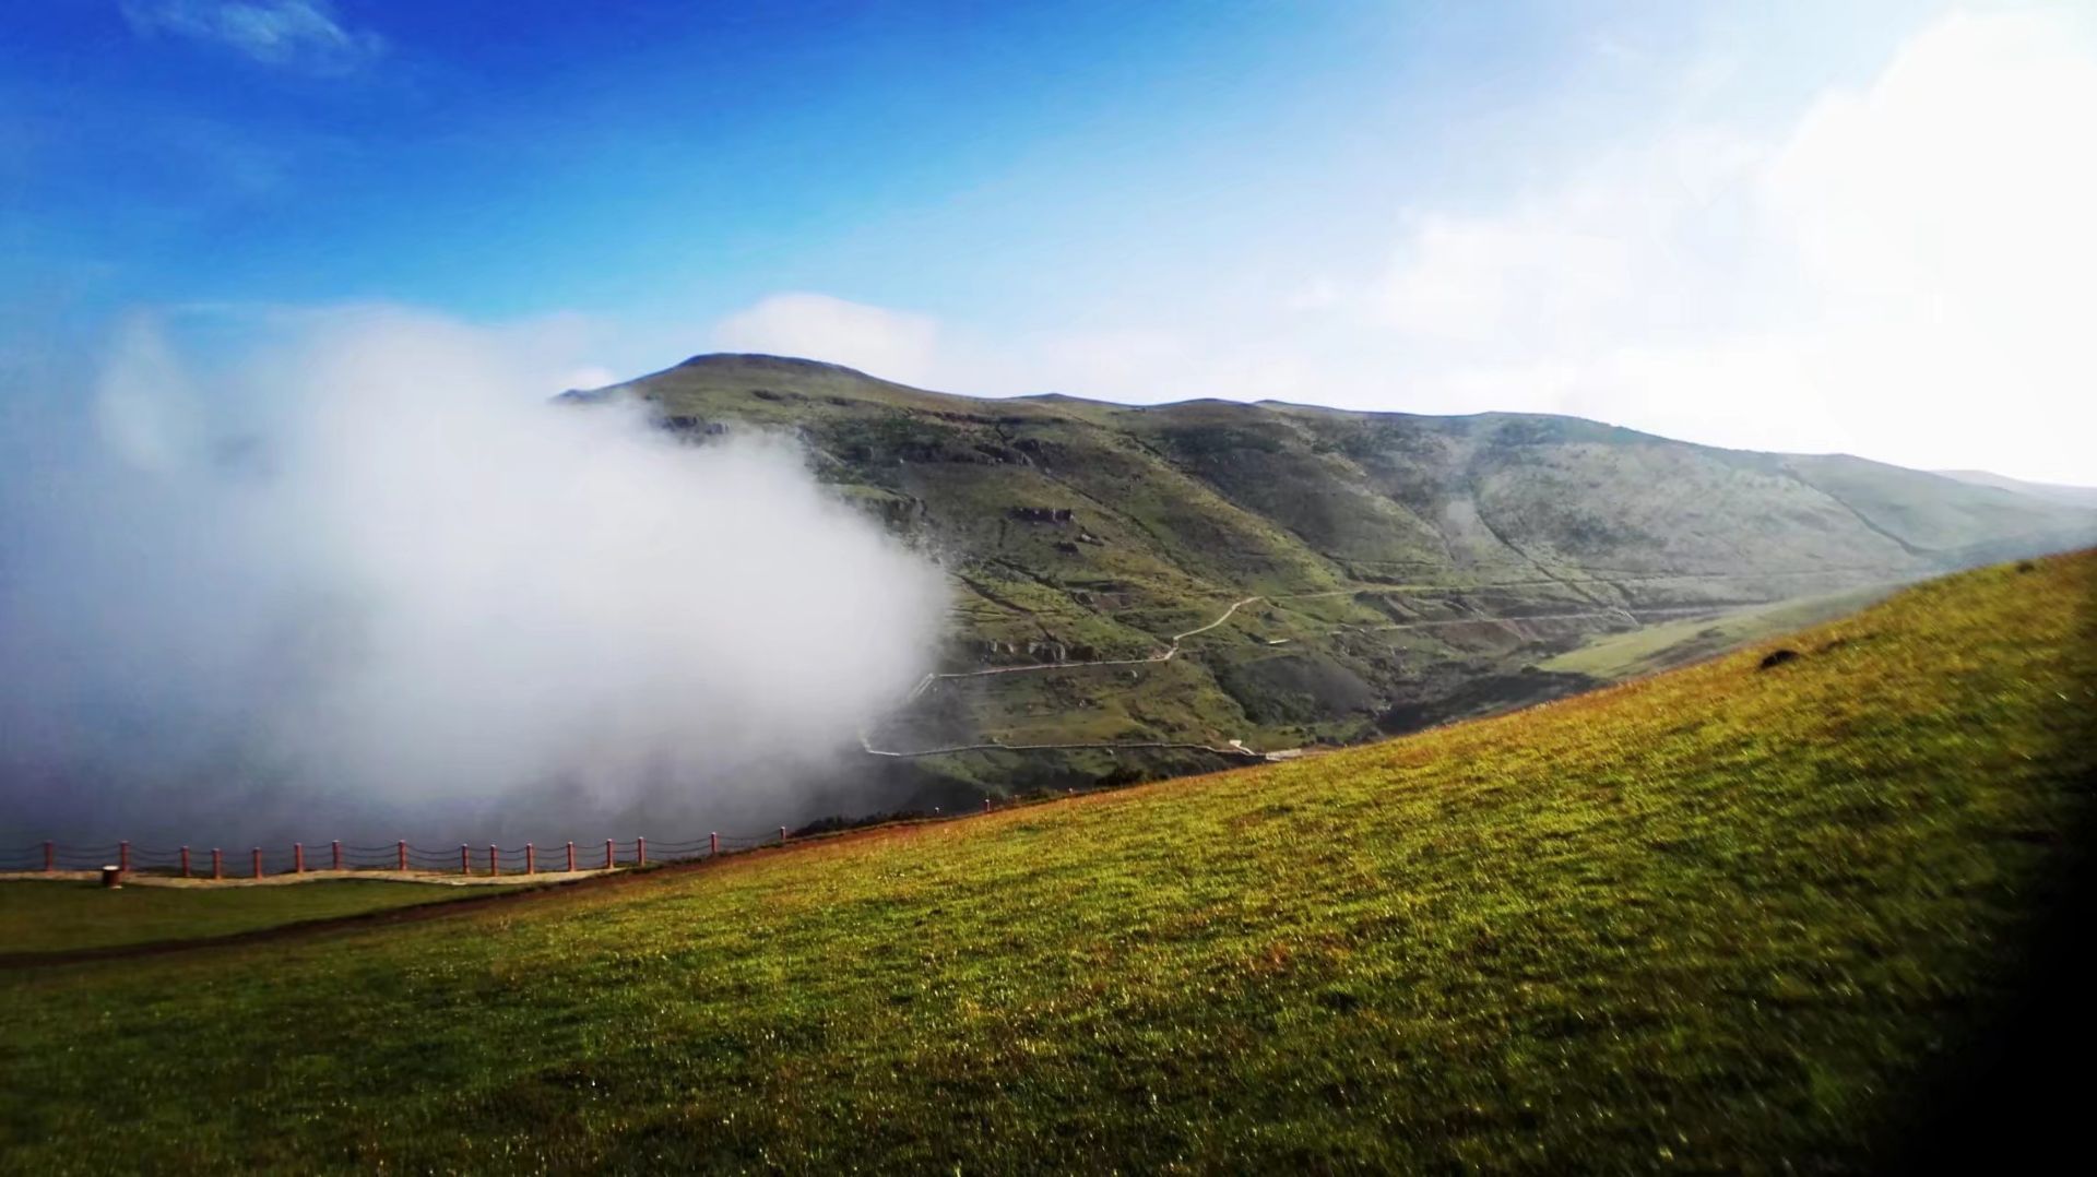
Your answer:
[[[17,881],[0,883],[0,953],[67,953],[231,936],[474,894],[472,887],[377,879],[222,890],[136,885],[117,892],[105,892],[101,883]]]

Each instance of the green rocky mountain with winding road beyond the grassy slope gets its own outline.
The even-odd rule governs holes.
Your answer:
[[[2097,541],[2032,495],[1556,415],[990,401],[757,355],[570,397],[617,394],[700,443],[793,432],[944,562],[948,678],[866,745],[992,793],[1422,728],[1592,686],[1537,663],[1600,636]]]

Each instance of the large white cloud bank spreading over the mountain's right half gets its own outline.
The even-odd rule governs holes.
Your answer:
[[[1378,294],[1443,405],[2091,480],[2093,111],[2068,15],[1950,17],[1768,145],[1424,216]]]

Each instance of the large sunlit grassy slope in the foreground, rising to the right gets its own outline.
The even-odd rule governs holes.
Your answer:
[[[2084,854],[2097,558],[1262,770],[0,978],[4,1167],[1858,1164]]]

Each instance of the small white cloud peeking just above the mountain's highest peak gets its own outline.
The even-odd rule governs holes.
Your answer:
[[[826,294],[774,294],[713,327],[721,350],[822,359],[902,384],[933,378],[937,344],[935,319]]]

